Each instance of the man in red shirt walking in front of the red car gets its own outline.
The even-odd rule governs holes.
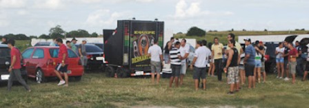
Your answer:
[[[54,73],[60,79],[58,85],[64,85],[68,87],[68,48],[63,44],[62,39],[56,39],[57,45],[59,45],[59,53],[58,53],[58,65],[54,69]],[[64,74],[64,79],[61,77],[60,72]]]

